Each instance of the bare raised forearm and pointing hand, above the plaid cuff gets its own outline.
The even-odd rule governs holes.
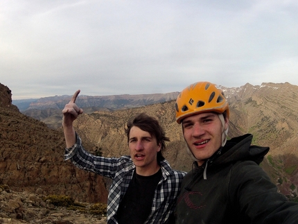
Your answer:
[[[73,128],[73,121],[77,119],[78,115],[82,114],[82,108],[76,105],[78,94],[80,94],[80,89],[73,94],[71,101],[69,101],[62,110],[62,127],[67,148],[70,148],[76,143],[76,132]]]

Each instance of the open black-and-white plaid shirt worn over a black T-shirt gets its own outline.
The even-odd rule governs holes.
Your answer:
[[[71,160],[80,169],[112,178],[107,198],[107,223],[118,223],[116,212],[132,180],[134,163],[130,156],[120,158],[94,156],[83,148],[80,137],[78,135],[76,137],[76,144],[72,148],[66,148],[64,160]],[[166,160],[161,160],[160,166],[162,178],[155,189],[151,212],[145,223],[168,223],[168,218],[175,209],[182,179],[186,175],[185,172],[171,169]]]

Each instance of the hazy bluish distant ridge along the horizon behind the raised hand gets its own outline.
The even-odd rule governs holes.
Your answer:
[[[83,108],[85,113],[99,110],[120,110],[132,107],[141,107],[154,103],[162,103],[175,99],[178,92],[168,94],[139,94],[139,95],[115,95],[115,96],[85,96],[79,95],[76,103]],[[69,102],[71,96],[51,96],[39,99],[14,100],[19,110],[29,117],[43,121],[50,128],[61,126],[61,110]]]

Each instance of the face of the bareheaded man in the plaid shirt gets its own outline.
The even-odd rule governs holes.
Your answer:
[[[139,175],[152,175],[158,171],[157,152],[161,149],[161,145],[157,144],[155,137],[152,137],[149,132],[133,126],[130,129],[128,146],[130,157],[132,157],[132,162],[134,162]]]

